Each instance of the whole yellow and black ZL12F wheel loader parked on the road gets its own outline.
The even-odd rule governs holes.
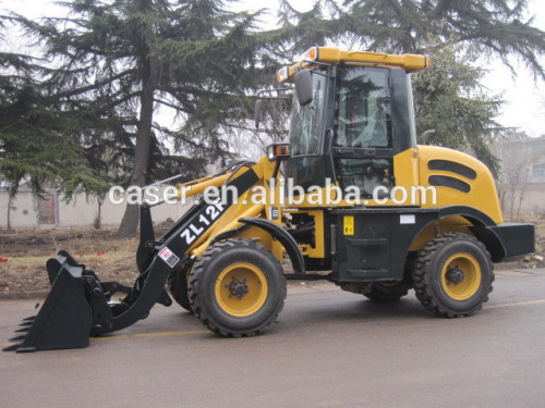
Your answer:
[[[504,223],[479,160],[416,144],[411,73],[429,64],[311,48],[277,73],[293,92],[289,144],[180,185],[195,202],[160,238],[143,203],[132,287],[101,282],[60,251],[46,265],[48,297],[8,349],[85,347],[157,302],[170,306],[166,286],[210,331],[232,337],[275,322],[287,280],[327,280],[375,301],[413,288],[447,318],[480,310],[494,262],[533,252],[534,226]]]

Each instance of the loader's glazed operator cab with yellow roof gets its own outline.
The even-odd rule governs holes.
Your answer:
[[[397,180],[414,182],[417,174],[407,172],[399,178],[395,158],[416,147],[410,72],[427,64],[420,55],[313,48],[281,70],[278,79],[296,88],[286,177],[305,189],[356,186],[362,198]]]

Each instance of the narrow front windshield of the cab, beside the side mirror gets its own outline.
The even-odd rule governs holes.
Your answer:
[[[319,151],[319,135],[326,78],[313,74],[313,100],[302,107],[296,96],[293,98],[290,126],[290,148],[292,156],[317,154]]]

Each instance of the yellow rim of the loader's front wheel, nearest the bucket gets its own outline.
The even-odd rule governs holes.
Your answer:
[[[267,298],[267,280],[252,263],[233,263],[216,281],[216,300],[227,313],[245,317],[255,313]]]

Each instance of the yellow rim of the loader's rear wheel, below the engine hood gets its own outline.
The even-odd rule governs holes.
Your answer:
[[[481,265],[469,254],[456,254],[443,267],[443,288],[456,300],[467,300],[475,295],[481,286]]]

